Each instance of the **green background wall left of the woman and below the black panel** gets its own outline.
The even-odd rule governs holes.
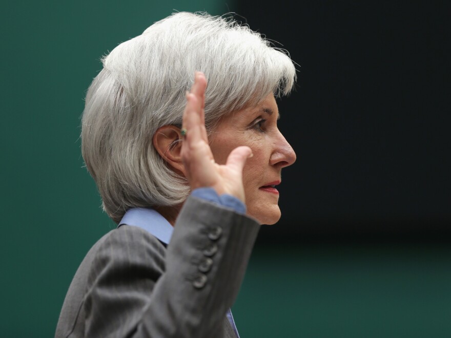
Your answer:
[[[0,336],[53,336],[77,266],[115,226],[101,212],[78,139],[99,57],[173,9],[222,14],[233,6],[2,5]],[[242,337],[451,336],[450,263],[444,244],[258,242],[235,321]]]

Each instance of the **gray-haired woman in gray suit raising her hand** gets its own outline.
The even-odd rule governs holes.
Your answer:
[[[293,62],[247,27],[177,13],[103,64],[82,152],[119,226],[78,268],[56,336],[238,336],[229,308],[296,158],[275,101]]]

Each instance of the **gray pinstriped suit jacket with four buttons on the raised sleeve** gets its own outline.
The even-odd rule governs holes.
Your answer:
[[[226,312],[258,223],[190,196],[166,248],[124,225],[101,238],[69,287],[56,337],[235,337]]]

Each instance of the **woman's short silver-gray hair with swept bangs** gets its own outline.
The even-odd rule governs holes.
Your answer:
[[[131,207],[171,206],[190,187],[163,161],[152,138],[181,125],[194,72],[208,79],[205,121],[273,93],[287,95],[296,70],[288,53],[232,18],[180,12],[156,22],[101,59],[81,120],[81,151],[105,212],[118,223]]]

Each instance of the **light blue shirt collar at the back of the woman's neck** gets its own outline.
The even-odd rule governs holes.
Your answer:
[[[140,227],[165,244],[169,244],[174,231],[174,227],[166,218],[154,209],[147,208],[128,209],[117,227],[124,224]]]

